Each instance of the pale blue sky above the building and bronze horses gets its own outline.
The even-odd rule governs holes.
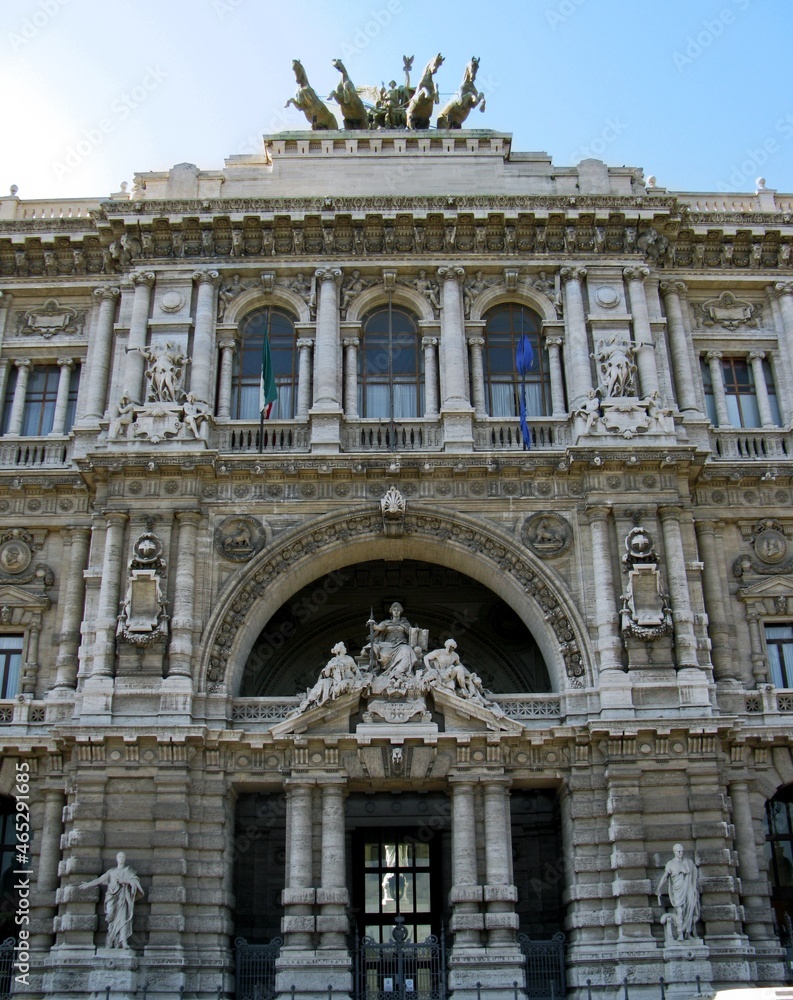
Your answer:
[[[283,105],[299,58],[318,94],[343,59],[358,86],[442,94],[481,59],[468,124],[566,166],[642,167],[678,191],[793,192],[790,0],[4,0],[0,192],[105,196],[136,171],[203,169],[306,126]]]

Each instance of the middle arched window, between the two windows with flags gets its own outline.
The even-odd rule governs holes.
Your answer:
[[[358,412],[400,419],[424,413],[424,356],[419,327],[389,306],[364,317],[358,352]]]

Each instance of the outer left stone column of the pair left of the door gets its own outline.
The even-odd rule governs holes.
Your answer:
[[[299,782],[286,782],[286,809],[288,824],[287,886],[281,902],[284,916],[281,930],[284,949],[308,950],[314,933],[313,850],[311,843],[311,811],[314,786]]]

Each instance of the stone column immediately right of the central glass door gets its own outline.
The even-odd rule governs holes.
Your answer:
[[[449,897],[454,913],[451,929],[454,947],[472,948],[479,944],[484,919],[480,912],[482,886],[476,871],[475,782],[466,778],[449,779],[452,790],[452,891]]]

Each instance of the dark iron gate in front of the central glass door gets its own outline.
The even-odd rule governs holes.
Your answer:
[[[443,931],[408,941],[404,917],[396,917],[391,940],[365,937],[355,949],[355,1000],[446,1000]]]

